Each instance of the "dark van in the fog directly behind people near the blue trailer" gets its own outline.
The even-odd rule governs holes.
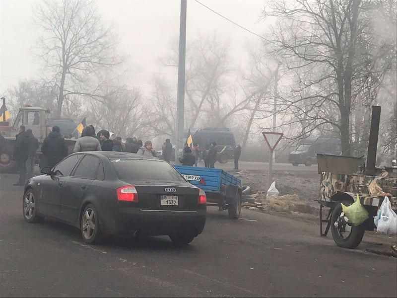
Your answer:
[[[193,135],[193,143],[199,144],[200,149],[205,149],[213,142],[216,143],[220,163],[234,158],[236,141],[230,128],[204,128]]]

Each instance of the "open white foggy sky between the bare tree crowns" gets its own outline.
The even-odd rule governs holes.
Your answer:
[[[201,0],[215,11],[258,34],[265,32],[260,21],[265,0]],[[38,78],[40,61],[33,54],[39,35],[32,18],[32,6],[40,0],[0,0],[0,95],[19,80]],[[158,57],[167,53],[170,41],[179,34],[179,0],[97,0],[105,23],[113,24],[119,36],[119,50],[128,55],[125,69],[130,86],[143,92],[151,87],[156,73],[176,75],[164,70]],[[230,38],[235,65],[240,65],[247,44],[260,39],[236,27],[193,0],[188,0],[187,38],[211,34]],[[188,44],[189,46],[189,44]]]

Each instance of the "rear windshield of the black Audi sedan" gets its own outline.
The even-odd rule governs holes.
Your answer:
[[[167,162],[144,159],[111,158],[117,176],[125,181],[184,182],[179,172]]]

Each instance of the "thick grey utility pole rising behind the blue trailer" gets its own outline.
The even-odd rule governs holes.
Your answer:
[[[186,61],[186,0],[181,0],[181,19],[179,23],[178,56],[178,93],[177,93],[177,127],[175,130],[175,162],[178,163],[179,149],[182,148],[185,121],[185,61]]]

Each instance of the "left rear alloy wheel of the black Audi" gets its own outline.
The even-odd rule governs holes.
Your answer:
[[[102,240],[99,221],[99,214],[95,205],[88,204],[85,206],[80,220],[81,236],[85,243],[94,244]]]

